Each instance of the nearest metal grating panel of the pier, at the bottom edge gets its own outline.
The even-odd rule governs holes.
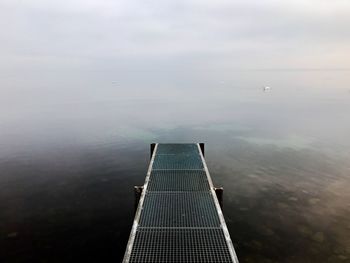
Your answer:
[[[130,262],[232,262],[232,258],[219,228],[141,228],[136,233]]]

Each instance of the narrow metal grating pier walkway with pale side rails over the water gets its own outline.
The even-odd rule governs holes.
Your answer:
[[[199,144],[155,144],[123,260],[134,262],[238,262]]]

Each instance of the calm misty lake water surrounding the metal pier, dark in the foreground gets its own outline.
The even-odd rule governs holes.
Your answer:
[[[4,82],[0,262],[120,262],[152,142],[206,143],[241,262],[350,262],[348,71]]]

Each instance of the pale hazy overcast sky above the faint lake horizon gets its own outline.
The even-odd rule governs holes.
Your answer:
[[[349,0],[0,0],[0,69],[350,68]]]

